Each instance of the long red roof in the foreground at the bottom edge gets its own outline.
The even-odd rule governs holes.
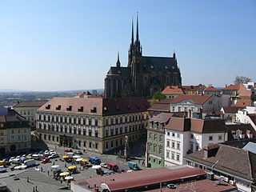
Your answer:
[[[148,170],[139,170],[130,173],[111,174],[105,177],[88,178],[76,181],[79,186],[86,187],[96,185],[100,186],[106,183],[111,191],[131,190],[137,187],[156,185],[160,182],[172,182],[181,180],[181,178],[197,178],[206,175],[199,168],[184,167],[177,170],[168,168],[154,168]]]

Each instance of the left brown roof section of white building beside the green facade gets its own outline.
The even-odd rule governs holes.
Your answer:
[[[190,118],[170,118],[165,126],[167,130],[190,131]]]

